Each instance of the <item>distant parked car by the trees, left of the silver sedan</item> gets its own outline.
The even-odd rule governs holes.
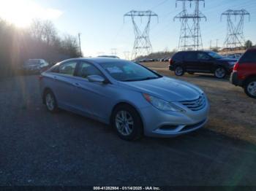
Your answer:
[[[50,64],[43,59],[29,59],[23,64],[23,71],[39,73],[48,69]]]

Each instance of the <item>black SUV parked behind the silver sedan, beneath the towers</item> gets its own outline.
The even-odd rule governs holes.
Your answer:
[[[189,74],[212,73],[217,78],[224,78],[233,71],[236,59],[224,58],[213,51],[181,51],[170,59],[169,69],[176,76]]]

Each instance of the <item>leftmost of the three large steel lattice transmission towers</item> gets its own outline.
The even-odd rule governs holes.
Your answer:
[[[137,58],[139,55],[149,55],[152,52],[152,45],[149,39],[149,30],[150,30],[150,24],[151,24],[151,18],[157,17],[158,15],[151,10],[148,11],[135,11],[132,10],[130,12],[127,12],[127,14],[124,15],[125,17],[131,17],[132,18],[132,24],[133,29],[135,33],[135,43],[132,50],[132,56],[131,58]],[[136,18],[140,17],[141,23],[142,18],[146,17],[146,26],[143,28],[143,30],[140,29],[138,26],[138,23],[136,22]]]

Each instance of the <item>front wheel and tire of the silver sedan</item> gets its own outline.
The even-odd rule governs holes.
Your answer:
[[[111,125],[118,136],[126,141],[140,139],[143,136],[143,122],[140,114],[132,106],[117,106],[111,117]]]

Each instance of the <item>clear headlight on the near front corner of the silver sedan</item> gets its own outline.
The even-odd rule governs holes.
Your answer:
[[[143,93],[143,97],[148,101],[152,106],[156,107],[159,110],[165,111],[165,112],[184,112],[183,109],[176,106],[175,104],[172,104],[168,101],[155,98],[152,95],[148,95],[147,93]]]

